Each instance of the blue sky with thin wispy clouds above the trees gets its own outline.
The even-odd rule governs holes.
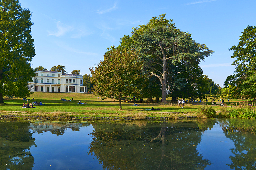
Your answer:
[[[235,69],[228,48],[237,45],[248,25],[256,23],[255,0],[184,1],[35,1],[20,0],[32,12],[32,36],[36,55],[33,68],[65,66],[69,73],[89,67],[103,59],[106,48],[118,46],[133,27],[150,18],[166,14],[175,26],[215,51],[200,63],[204,74],[222,86]],[[223,87],[223,86],[222,86]]]

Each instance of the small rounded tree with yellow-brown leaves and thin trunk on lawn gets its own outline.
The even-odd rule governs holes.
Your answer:
[[[120,109],[122,96],[139,93],[140,85],[144,84],[145,76],[141,71],[141,62],[138,62],[138,54],[131,50],[123,51],[111,46],[104,60],[90,71],[93,93],[103,99],[106,96],[118,97]]]

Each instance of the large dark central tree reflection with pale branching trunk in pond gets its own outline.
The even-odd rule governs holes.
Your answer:
[[[193,121],[92,126],[89,154],[104,169],[204,169],[211,164],[196,149],[202,134]]]

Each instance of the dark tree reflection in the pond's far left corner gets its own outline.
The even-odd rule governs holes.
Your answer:
[[[29,149],[36,146],[28,122],[0,122],[0,169],[32,169],[34,157]]]

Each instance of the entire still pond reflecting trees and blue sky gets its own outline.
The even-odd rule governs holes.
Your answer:
[[[256,121],[0,121],[0,169],[256,169]]]

